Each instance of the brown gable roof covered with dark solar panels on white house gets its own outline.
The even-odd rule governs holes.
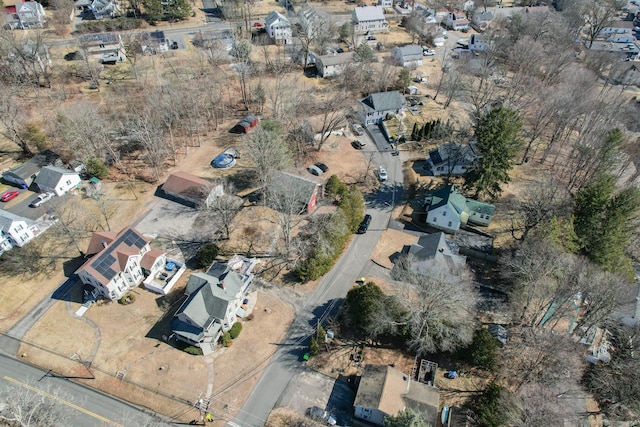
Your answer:
[[[106,286],[118,273],[122,272],[129,257],[139,254],[147,243],[149,239],[136,229],[127,227],[118,233],[115,240],[107,243],[106,247],[87,261],[80,270],[87,271]]]

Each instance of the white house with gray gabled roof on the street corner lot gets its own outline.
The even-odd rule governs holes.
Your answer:
[[[204,354],[213,352],[222,333],[243,315],[241,305],[257,264],[255,258],[236,255],[227,263],[213,263],[206,273],[191,274],[187,298],[171,321],[176,338],[200,347]]]

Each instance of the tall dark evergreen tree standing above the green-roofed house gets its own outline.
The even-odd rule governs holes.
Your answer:
[[[465,176],[467,188],[475,189],[476,197],[486,194],[497,197],[501,185],[509,182],[513,158],[522,146],[518,138],[522,122],[519,114],[505,107],[497,107],[484,115],[476,125],[477,148],[481,157]]]

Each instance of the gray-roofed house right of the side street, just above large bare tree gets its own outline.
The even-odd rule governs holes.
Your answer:
[[[421,236],[418,243],[405,246],[402,254],[407,257],[409,269],[423,275],[453,271],[466,262],[466,257],[458,255],[457,246],[443,232]]]

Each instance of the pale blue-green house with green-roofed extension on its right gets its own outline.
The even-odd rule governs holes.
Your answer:
[[[448,185],[427,194],[426,223],[431,227],[455,234],[469,224],[487,226],[493,219],[495,206],[464,197],[455,185]]]

